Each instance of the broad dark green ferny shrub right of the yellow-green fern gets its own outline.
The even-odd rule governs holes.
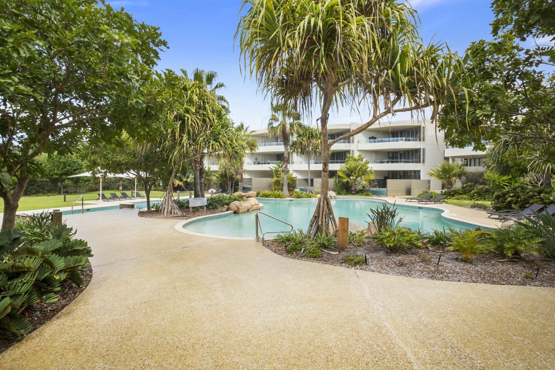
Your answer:
[[[523,253],[538,254],[538,247],[542,238],[535,236],[524,227],[497,229],[484,231],[482,245],[485,250],[491,250],[507,257],[520,256]]]

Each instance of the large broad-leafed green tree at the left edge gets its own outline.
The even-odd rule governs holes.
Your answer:
[[[6,0],[0,13],[0,189],[2,230],[41,153],[72,153],[121,129],[148,131],[141,86],[165,48],[158,28],[96,0]]]

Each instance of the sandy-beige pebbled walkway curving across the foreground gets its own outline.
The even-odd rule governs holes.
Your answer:
[[[67,217],[93,279],[3,370],[555,368],[553,288],[291,260],[136,212]]]

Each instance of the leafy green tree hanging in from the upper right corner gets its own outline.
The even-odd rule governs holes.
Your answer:
[[[555,166],[555,4],[495,0],[492,8],[495,38],[467,49],[472,92],[443,106],[439,126],[453,146],[484,149],[483,139],[503,141],[529,171],[543,173],[548,187]],[[545,36],[551,44],[519,42]]]

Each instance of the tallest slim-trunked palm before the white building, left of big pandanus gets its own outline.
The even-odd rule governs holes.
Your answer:
[[[291,110],[286,104],[272,104],[272,115],[268,121],[268,133],[278,140],[283,141],[283,158],[284,158],[284,179],[283,194],[289,196],[287,190],[287,164],[289,162],[289,141],[291,136],[299,132],[302,125],[301,115]]]

